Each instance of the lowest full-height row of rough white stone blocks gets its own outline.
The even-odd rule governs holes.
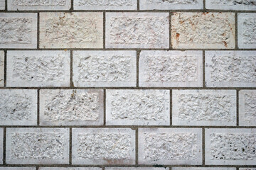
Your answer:
[[[6,128],[5,161],[201,165],[205,157],[206,165],[255,165],[255,136],[255,128]]]

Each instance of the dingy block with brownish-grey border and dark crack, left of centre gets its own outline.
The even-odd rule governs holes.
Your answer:
[[[103,90],[41,90],[41,125],[103,125]]]

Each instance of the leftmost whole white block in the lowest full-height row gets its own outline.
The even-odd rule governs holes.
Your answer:
[[[7,128],[6,164],[68,164],[69,128]]]

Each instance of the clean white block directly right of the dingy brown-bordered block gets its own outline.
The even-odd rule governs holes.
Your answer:
[[[170,125],[166,90],[107,90],[106,125]]]

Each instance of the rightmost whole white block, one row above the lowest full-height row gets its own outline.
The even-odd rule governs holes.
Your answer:
[[[236,125],[236,91],[173,90],[172,125]]]

